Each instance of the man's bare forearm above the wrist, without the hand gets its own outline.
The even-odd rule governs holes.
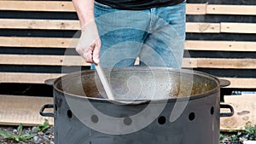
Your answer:
[[[73,5],[79,16],[81,27],[94,20],[94,0],[73,0]]]

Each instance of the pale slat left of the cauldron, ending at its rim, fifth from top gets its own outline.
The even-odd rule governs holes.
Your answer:
[[[0,83],[44,84],[50,78],[59,78],[62,73],[0,72]]]

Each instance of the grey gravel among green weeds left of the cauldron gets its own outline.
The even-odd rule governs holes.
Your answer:
[[[8,132],[11,135],[18,135],[17,126],[0,126],[0,130]],[[21,135],[35,135],[28,141],[17,142],[15,140],[3,139],[0,135],[0,144],[54,144],[54,128],[50,127],[47,130],[38,131],[36,127],[23,127]]]

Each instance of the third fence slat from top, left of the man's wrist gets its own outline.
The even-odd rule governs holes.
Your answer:
[[[0,46],[27,48],[75,48],[79,38],[0,37]]]

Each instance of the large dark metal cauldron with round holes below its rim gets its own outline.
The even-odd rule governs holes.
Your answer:
[[[55,79],[54,104],[40,110],[54,117],[55,144],[218,144],[219,118],[234,113],[220,104],[222,80],[204,72],[139,66],[104,72],[114,101],[95,70]]]

